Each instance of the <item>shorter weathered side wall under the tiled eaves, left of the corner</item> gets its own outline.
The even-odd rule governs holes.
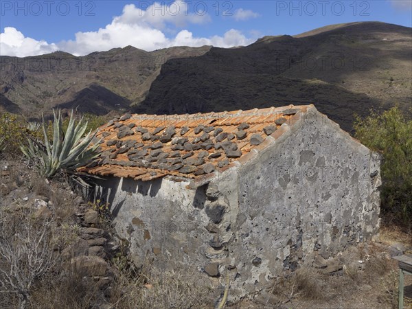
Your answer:
[[[227,251],[214,249],[222,238],[214,238],[213,222],[227,224],[222,218],[230,217],[229,203],[237,205],[238,192],[224,190],[225,181],[224,195],[214,185],[188,190],[188,184],[166,178],[143,182],[111,177],[100,181],[94,194],[110,204],[117,234],[127,240],[137,266],[150,265],[157,273],[176,271],[183,281],[190,277],[187,282],[197,276],[199,286],[213,286],[205,290],[218,299],[224,290],[218,279],[224,265],[214,259],[226,258]]]

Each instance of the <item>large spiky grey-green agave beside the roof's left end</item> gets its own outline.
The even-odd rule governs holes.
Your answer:
[[[53,111],[54,113],[54,111]],[[91,131],[82,138],[87,128],[87,122],[80,119],[75,124],[73,113],[70,116],[69,126],[64,133],[62,130],[62,118],[60,111],[58,116],[54,113],[53,124],[53,143],[50,143],[47,137],[45,120],[43,117],[43,135],[44,145],[34,139],[27,139],[27,145],[21,147],[21,151],[30,159],[40,160],[40,170],[43,176],[52,177],[58,170],[76,170],[85,165],[91,159],[100,155],[98,143],[93,145],[97,131],[91,134]]]

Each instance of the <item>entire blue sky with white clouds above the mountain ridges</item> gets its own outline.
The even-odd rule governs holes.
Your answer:
[[[411,0],[0,1],[0,54],[84,55],[133,45],[231,47],[353,21],[412,26]]]

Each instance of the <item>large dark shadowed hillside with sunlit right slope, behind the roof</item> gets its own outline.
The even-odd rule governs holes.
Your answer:
[[[411,28],[367,22],[168,60],[136,113],[196,113],[310,104],[352,128],[353,114],[411,106]],[[187,65],[190,64],[190,65]]]

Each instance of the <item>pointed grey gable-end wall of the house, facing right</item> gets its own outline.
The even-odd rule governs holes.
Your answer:
[[[231,299],[271,285],[317,254],[334,255],[378,231],[379,158],[325,116],[300,125],[239,167],[236,237],[228,244]]]

